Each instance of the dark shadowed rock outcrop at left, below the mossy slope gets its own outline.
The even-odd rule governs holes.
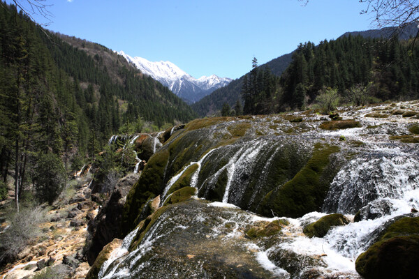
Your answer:
[[[87,247],[87,261],[93,264],[102,248],[121,235],[120,224],[126,195],[138,181],[138,174],[128,174],[119,179],[110,198],[99,210],[98,215],[89,223],[91,241]]]

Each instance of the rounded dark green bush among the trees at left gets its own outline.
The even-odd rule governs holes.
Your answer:
[[[52,204],[66,185],[66,170],[54,153],[41,153],[37,162],[34,175],[36,196],[40,202]]]

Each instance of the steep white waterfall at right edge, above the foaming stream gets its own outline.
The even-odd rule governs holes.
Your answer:
[[[407,155],[356,158],[335,177],[323,209],[354,214],[375,199],[404,199],[419,188],[418,166],[417,158]]]

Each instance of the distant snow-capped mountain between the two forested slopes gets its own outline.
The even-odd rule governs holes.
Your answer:
[[[195,103],[201,98],[212,93],[215,89],[226,86],[231,82],[227,77],[200,77],[196,79],[188,73],[185,73],[174,63],[169,61],[150,62],[142,57],[131,57],[125,52],[118,52],[119,55],[135,65],[142,73],[153,77],[188,103]]]

